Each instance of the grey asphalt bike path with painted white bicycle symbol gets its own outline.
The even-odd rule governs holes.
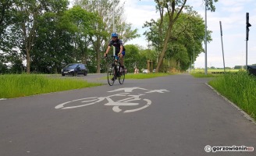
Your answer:
[[[112,87],[104,81],[0,101],[0,155],[256,155],[212,152],[255,148],[256,125],[208,87],[208,79],[180,74]]]

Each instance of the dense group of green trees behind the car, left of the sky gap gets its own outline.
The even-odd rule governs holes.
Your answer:
[[[112,2],[80,0],[68,6],[68,0],[1,1],[1,72],[58,73],[68,63],[83,62],[99,73],[112,33]],[[116,5],[116,30],[123,41],[138,37],[122,14],[123,6]]]

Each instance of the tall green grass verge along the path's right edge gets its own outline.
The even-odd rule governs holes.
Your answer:
[[[247,73],[229,73],[209,82],[220,94],[256,119],[256,78]]]

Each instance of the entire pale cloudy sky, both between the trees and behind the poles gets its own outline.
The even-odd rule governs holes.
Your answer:
[[[126,44],[148,46],[142,28],[146,21],[159,18],[153,0],[121,0],[125,2],[124,14],[127,23],[137,28],[141,37]],[[204,19],[203,0],[188,0],[187,5],[193,6]],[[246,63],[246,12],[250,13],[250,35],[248,41],[248,65],[256,63],[256,1],[255,0],[219,0],[215,3],[215,12],[207,12],[208,30],[212,30],[212,42],[208,43],[208,67],[223,67],[222,43],[219,21],[222,21],[222,39],[226,67],[244,66]],[[204,47],[204,44],[203,44]],[[204,68],[204,53],[196,58],[195,68]]]

